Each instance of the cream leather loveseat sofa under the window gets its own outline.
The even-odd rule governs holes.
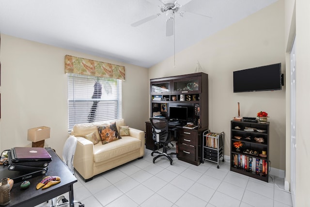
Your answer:
[[[129,136],[122,136],[122,139],[106,144],[102,144],[101,141],[94,144],[84,138],[86,135],[95,132],[100,139],[97,127],[105,124],[108,123],[78,124],[71,131],[71,135],[78,138],[74,168],[84,178],[85,182],[93,179],[94,175],[144,156],[144,131],[138,129],[129,127]],[[124,119],[116,121],[118,131],[120,126],[126,126]]]

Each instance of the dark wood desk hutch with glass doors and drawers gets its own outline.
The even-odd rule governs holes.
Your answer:
[[[170,119],[170,107],[186,107],[187,120],[176,126],[178,159],[199,165],[202,155],[202,133],[208,128],[208,74],[194,73],[150,80],[151,114],[160,113]],[[187,129],[186,122],[198,125]],[[146,148],[154,150],[152,127],[146,122]]]

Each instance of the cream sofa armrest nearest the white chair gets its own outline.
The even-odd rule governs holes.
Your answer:
[[[88,179],[93,177],[93,143],[83,137],[77,137],[77,139],[74,168],[84,179]]]

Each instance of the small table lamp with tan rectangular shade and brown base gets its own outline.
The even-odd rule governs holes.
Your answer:
[[[44,147],[44,140],[50,136],[50,127],[36,127],[28,129],[28,141],[32,147]]]

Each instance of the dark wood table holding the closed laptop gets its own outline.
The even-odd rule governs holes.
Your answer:
[[[67,165],[58,157],[51,149],[47,148],[47,152],[52,156],[52,161],[48,164],[48,170],[45,175],[39,175],[27,179],[30,181],[30,187],[25,190],[20,189],[21,182],[14,183],[11,190],[11,203],[6,207],[33,207],[55,198],[63,193],[69,192],[70,207],[74,207],[73,184],[77,182],[77,178],[71,173]],[[14,177],[21,175],[22,172],[9,171],[8,166],[0,166],[0,179],[5,177]],[[28,173],[24,173],[28,174]],[[36,185],[46,176],[55,175],[61,177],[61,182],[47,189],[36,190]]]

